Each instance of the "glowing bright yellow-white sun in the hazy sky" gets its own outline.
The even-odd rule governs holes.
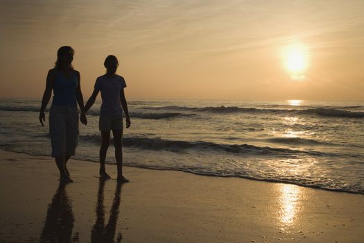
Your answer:
[[[307,52],[301,44],[293,44],[284,49],[284,66],[291,74],[302,74],[307,68]]]

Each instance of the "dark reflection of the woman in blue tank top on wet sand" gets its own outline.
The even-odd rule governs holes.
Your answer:
[[[58,185],[51,204],[49,204],[40,242],[79,242],[78,233],[72,237],[73,212],[67,192],[67,183]]]

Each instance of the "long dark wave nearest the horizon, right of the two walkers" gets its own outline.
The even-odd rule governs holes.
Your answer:
[[[349,110],[338,110],[335,108],[310,108],[310,109],[259,109],[259,108],[242,108],[238,106],[207,106],[207,107],[187,107],[187,106],[162,106],[154,108],[145,108],[153,110],[193,110],[198,112],[247,112],[247,113],[272,113],[272,114],[298,114],[298,115],[318,115],[321,117],[346,117],[346,118],[363,118],[364,112],[352,112]]]

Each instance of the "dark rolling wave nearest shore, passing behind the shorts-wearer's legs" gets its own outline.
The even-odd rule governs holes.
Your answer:
[[[98,134],[80,135],[80,140],[90,143],[100,143],[101,137]],[[297,153],[310,153],[320,156],[320,152],[299,151],[294,149],[272,148],[270,146],[254,146],[250,144],[216,144],[205,141],[180,141],[164,140],[160,137],[123,137],[123,146],[137,147],[140,149],[181,151],[184,149],[194,149],[198,151],[225,151],[229,153],[254,153],[254,155],[297,155]]]

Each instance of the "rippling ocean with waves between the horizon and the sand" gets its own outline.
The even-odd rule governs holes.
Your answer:
[[[0,149],[50,156],[40,103],[0,99]],[[100,106],[79,125],[78,160],[98,162]],[[123,165],[364,194],[364,101],[130,100],[128,107]],[[115,163],[112,143],[107,162]]]

